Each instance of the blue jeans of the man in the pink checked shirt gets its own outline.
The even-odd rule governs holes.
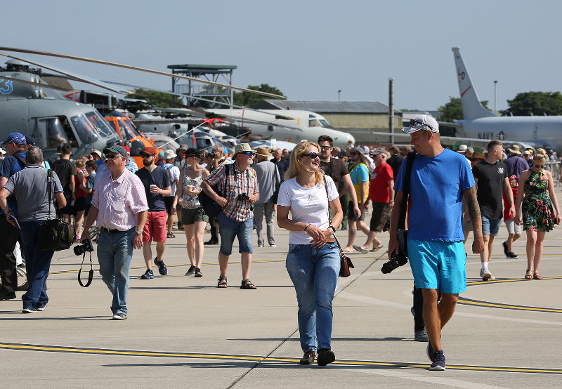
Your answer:
[[[103,282],[113,295],[111,311],[127,312],[127,289],[129,289],[129,269],[133,259],[133,237],[135,229],[110,234],[101,230],[98,238],[98,262]]]

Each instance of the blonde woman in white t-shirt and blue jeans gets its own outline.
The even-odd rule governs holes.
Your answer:
[[[316,143],[301,142],[294,147],[277,198],[277,224],[289,230],[286,267],[299,302],[304,352],[300,364],[312,364],[318,350],[318,365],[325,366],[336,359],[330,341],[340,256],[333,234],[344,213],[334,180],[318,169],[320,156]],[[332,223],[328,206],[334,213]]]

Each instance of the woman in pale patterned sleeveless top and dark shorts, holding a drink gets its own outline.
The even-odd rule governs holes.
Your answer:
[[[185,168],[182,169],[174,208],[181,204],[181,223],[187,239],[190,268],[185,275],[203,277],[201,263],[203,261],[203,232],[209,221],[197,199],[201,192],[202,181],[209,176],[209,171],[199,164],[203,152],[194,148],[185,151]]]

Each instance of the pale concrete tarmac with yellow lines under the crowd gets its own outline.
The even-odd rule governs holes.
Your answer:
[[[557,190],[558,197],[562,195]],[[218,246],[207,246],[202,278],[185,276],[183,232],[166,244],[169,274],[139,279],[142,251],[131,268],[125,321],[110,320],[111,296],[98,272],[89,288],[77,282],[81,257],[55,253],[44,312],[23,315],[18,298],[0,302],[0,358],[8,387],[324,388],[435,385],[459,388],[562,386],[562,230],[547,234],[542,280],[525,280],[525,235],[519,258],[503,255],[504,225],[490,270],[478,277],[479,256],[466,263],[469,286],[443,330],[446,371],[429,371],[426,343],[413,340],[412,273],[408,265],[380,271],[386,252],[360,254],[334,298],[327,367],[300,366],[296,296],[285,270],[289,234],[277,247],[258,248],[254,233],[251,281],[241,290],[240,254],[230,257],[228,289],[216,288]],[[339,231],[346,243],[346,231]],[[467,248],[471,243],[467,242]],[[209,239],[206,233],[205,240]],[[356,242],[365,237],[358,232]],[[388,232],[381,234],[388,244]],[[237,244],[237,242],[235,242]],[[86,258],[87,260],[87,258]],[[93,256],[94,268],[97,258]],[[87,277],[87,275],[86,275]],[[20,282],[21,284],[21,282]]]

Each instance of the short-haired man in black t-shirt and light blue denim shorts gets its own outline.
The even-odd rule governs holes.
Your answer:
[[[488,262],[492,255],[492,243],[502,223],[502,193],[505,191],[509,200],[510,212],[515,214],[514,196],[509,185],[507,166],[500,161],[503,154],[503,145],[497,140],[488,143],[488,155],[484,161],[474,165],[472,173],[476,181],[476,197],[480,205],[482,216],[482,234],[484,237],[484,251],[480,253],[482,269],[480,277],[484,281],[495,279]]]

